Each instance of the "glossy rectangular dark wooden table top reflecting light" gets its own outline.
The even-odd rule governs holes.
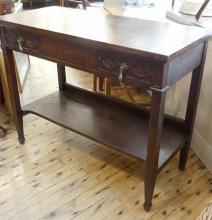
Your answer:
[[[49,36],[54,34],[64,39],[89,40],[91,46],[159,61],[172,59],[208,37],[207,32],[199,27],[101,15],[56,6],[1,16],[0,25]]]

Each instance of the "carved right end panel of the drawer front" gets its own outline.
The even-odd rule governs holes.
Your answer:
[[[150,86],[153,82],[153,64],[138,57],[127,57],[110,52],[100,52],[99,70],[119,77],[122,69],[123,78],[136,84]]]

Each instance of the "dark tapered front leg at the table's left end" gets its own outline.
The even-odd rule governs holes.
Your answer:
[[[12,113],[13,113],[13,120],[16,125],[16,130],[18,133],[18,140],[20,144],[24,144],[24,130],[23,130],[23,114],[21,110],[19,92],[18,92],[18,85],[17,85],[17,78],[15,72],[15,62],[12,50],[3,47],[2,51],[4,55],[4,63],[5,63],[5,70],[6,76],[8,81],[8,87],[10,91],[10,98],[12,104]]]

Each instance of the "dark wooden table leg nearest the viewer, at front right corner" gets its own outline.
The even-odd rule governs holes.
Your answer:
[[[149,211],[152,206],[152,197],[157,176],[165,96],[165,91],[152,91],[152,105],[148,130],[146,171],[144,181],[144,209],[146,211]]]

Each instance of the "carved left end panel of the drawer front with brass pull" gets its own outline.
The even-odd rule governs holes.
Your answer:
[[[6,29],[5,40],[6,40],[6,44],[15,47],[20,52],[41,51],[40,37],[36,34],[29,34],[24,31]]]

